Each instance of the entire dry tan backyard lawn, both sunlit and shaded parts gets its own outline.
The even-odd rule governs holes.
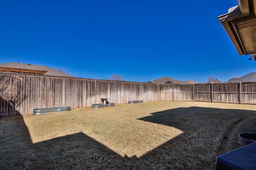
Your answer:
[[[214,169],[256,106],[144,102],[0,119],[0,169]]]

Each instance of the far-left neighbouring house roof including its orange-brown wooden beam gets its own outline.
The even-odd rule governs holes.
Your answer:
[[[28,74],[40,74],[46,76],[58,76],[58,77],[74,77],[70,74],[46,67],[34,64],[22,64],[22,63],[3,63],[0,64],[0,72],[19,72]]]

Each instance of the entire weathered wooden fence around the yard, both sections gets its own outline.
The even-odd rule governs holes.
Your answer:
[[[256,104],[256,83],[150,84],[85,78],[1,73],[0,117],[32,114],[49,107],[91,107],[101,98],[129,101],[202,101]]]

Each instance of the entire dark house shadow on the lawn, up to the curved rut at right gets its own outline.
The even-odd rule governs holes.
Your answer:
[[[0,119],[0,169],[214,169],[227,129],[256,111],[186,107],[151,114],[139,120],[184,133],[140,158],[122,157],[84,133],[32,144],[22,117]]]

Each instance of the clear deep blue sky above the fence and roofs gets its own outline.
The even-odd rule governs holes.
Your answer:
[[[226,82],[255,72],[217,16],[237,0],[5,0],[0,63],[64,68],[80,78]]]

